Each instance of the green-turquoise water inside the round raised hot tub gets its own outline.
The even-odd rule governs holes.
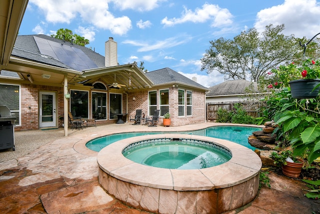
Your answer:
[[[134,146],[123,155],[148,166],[167,169],[201,169],[227,162],[231,156],[213,147],[182,141],[170,141]]]

